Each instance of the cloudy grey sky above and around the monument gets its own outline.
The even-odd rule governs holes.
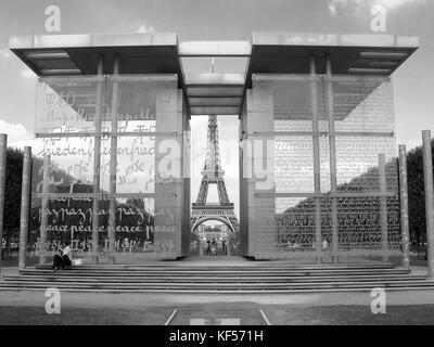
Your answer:
[[[11,36],[47,34],[48,5],[61,9],[60,34],[171,31],[188,41],[248,40],[253,31],[369,34],[374,4],[386,9],[388,34],[421,39],[421,48],[393,75],[397,142],[412,149],[421,143],[421,130],[434,130],[433,0],[1,0],[0,131],[9,133],[11,145],[33,143],[36,76],[8,42]],[[220,145],[238,139],[235,117],[219,121]],[[194,118],[191,127],[193,141],[203,144],[199,134],[206,133],[206,118]],[[238,175],[231,174],[238,162],[229,165],[227,185],[238,204]],[[193,200],[197,184],[193,177]]]

